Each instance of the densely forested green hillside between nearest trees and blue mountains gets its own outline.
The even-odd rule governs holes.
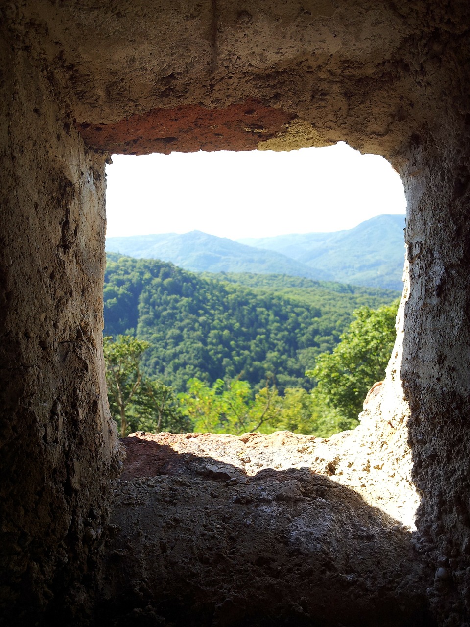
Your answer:
[[[305,387],[306,369],[330,351],[360,305],[390,303],[396,292],[279,275],[210,277],[159,260],[108,255],[105,335],[135,333],[151,346],[144,369],[184,391],[188,379],[266,377],[283,393]]]

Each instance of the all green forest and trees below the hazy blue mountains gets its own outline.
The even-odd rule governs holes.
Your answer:
[[[353,428],[395,337],[396,304],[372,307],[395,295],[283,275],[195,275],[108,255],[113,416],[122,435],[194,428],[327,437]],[[142,339],[123,337],[129,330]]]

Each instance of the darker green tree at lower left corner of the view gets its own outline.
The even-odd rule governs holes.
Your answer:
[[[131,431],[191,431],[172,387],[147,379],[140,362],[149,342],[130,335],[103,339],[110,411],[122,438]]]

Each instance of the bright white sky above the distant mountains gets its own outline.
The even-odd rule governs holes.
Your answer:
[[[292,152],[113,155],[107,182],[108,237],[339,231],[406,208],[389,162],[343,142]]]

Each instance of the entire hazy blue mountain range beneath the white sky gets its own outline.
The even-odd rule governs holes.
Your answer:
[[[382,214],[353,229],[233,241],[164,233],[107,238],[107,251],[171,261],[199,272],[284,274],[402,290],[404,215]]]

